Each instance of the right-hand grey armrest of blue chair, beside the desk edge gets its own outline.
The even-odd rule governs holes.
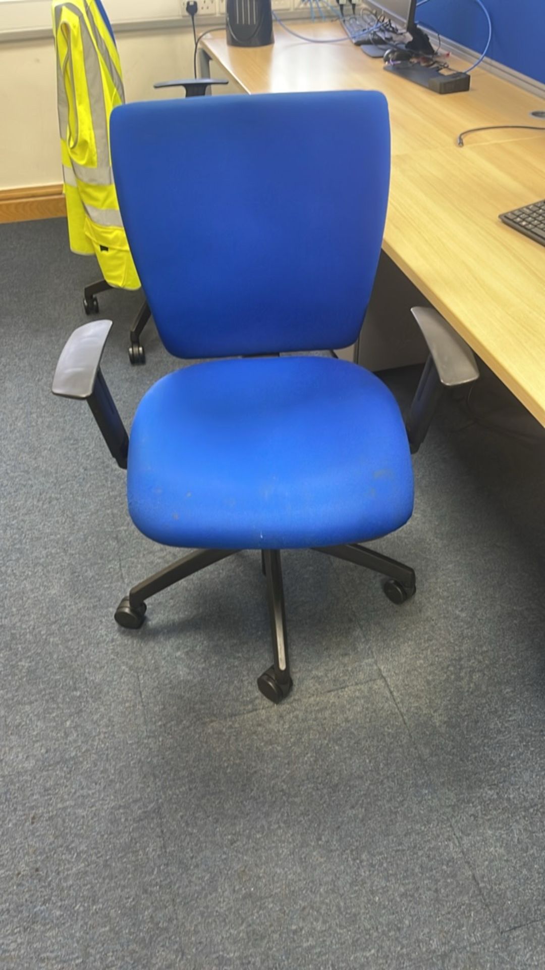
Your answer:
[[[428,433],[444,389],[472,383],[477,380],[479,369],[465,340],[440,313],[432,307],[412,307],[411,313],[430,350],[405,422],[410,450],[414,454]]]

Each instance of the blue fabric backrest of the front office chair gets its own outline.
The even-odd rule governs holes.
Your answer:
[[[178,357],[317,350],[359,334],[390,126],[374,91],[116,108],[112,164],[145,296]]]

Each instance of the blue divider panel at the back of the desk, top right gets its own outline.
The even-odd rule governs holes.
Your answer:
[[[545,83],[545,0],[483,0],[492,17],[488,56]],[[417,20],[466,48],[484,49],[486,16],[476,0],[429,0],[417,8]]]

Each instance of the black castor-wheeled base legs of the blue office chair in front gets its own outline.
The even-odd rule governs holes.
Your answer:
[[[389,559],[365,546],[350,545],[320,546],[315,552],[327,553],[337,559],[347,560],[356,566],[365,566],[374,572],[388,577],[383,589],[386,596],[397,605],[406,602],[416,593],[414,570],[410,566],[403,566],[395,559]],[[128,630],[138,630],[144,623],[145,599],[155,596],[169,586],[186,579],[187,576],[212,566],[222,559],[233,556],[238,549],[200,549],[189,553],[183,559],[178,559],[172,566],[166,566],[160,572],[154,573],[138,586],[133,586],[128,597],[121,599],[115,610],[114,619],[120,627]],[[267,601],[269,605],[269,620],[272,634],[272,666],[258,677],[257,686],[261,693],[277,704],[290,693],[293,681],[290,674],[288,657],[288,637],[286,629],[286,613],[284,607],[284,590],[282,584],[282,567],[278,549],[264,549],[261,553],[261,565],[267,579]]]

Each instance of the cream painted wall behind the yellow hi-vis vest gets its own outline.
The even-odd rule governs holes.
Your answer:
[[[190,30],[121,33],[116,40],[127,101],[180,97],[179,88],[154,91],[153,81],[193,77]],[[0,44],[0,106],[0,190],[60,182],[52,37]]]

